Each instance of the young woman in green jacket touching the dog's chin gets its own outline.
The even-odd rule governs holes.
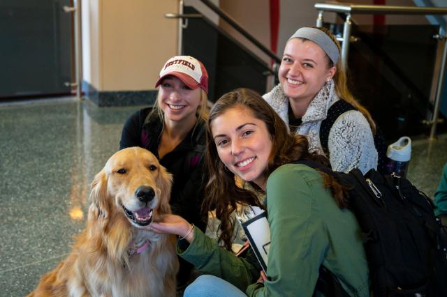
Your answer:
[[[306,137],[291,134],[258,93],[237,89],[212,107],[205,160],[210,173],[204,210],[221,221],[219,242],[177,215],[150,226],[179,236],[177,252],[204,273],[184,296],[313,296],[319,269],[335,275],[351,296],[369,296],[368,268],[355,216],[335,179],[296,160],[328,160],[309,153]],[[266,194],[235,185],[235,175]],[[252,252],[231,251],[237,204],[268,213],[271,232],[266,279]]]

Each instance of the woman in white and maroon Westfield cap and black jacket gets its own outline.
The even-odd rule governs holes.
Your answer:
[[[160,71],[154,107],[132,114],[122,130],[120,149],[147,148],[173,174],[170,206],[173,213],[205,231],[207,219],[200,215],[204,197],[203,155],[208,116],[208,74],[192,56],[174,56]],[[180,261],[177,286],[188,279],[191,264]]]

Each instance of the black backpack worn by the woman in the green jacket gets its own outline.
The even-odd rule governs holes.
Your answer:
[[[349,208],[362,229],[374,297],[447,296],[446,227],[434,216],[432,201],[423,192],[406,178],[374,169],[365,175],[359,169],[344,174],[312,161],[298,163],[331,174],[348,188]],[[319,291],[347,296],[335,294],[344,290],[325,275],[318,280]],[[322,283],[323,289],[318,287]]]

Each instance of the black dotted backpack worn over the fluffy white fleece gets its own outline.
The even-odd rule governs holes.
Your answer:
[[[328,116],[321,122],[320,125],[320,143],[321,147],[325,155],[329,157],[329,148],[328,148],[328,139],[329,132],[332,125],[334,125],[335,121],[339,116],[344,114],[345,112],[349,112],[350,110],[356,110],[356,107],[353,107],[350,103],[345,100],[338,100],[334,104],[332,104],[328,109]],[[379,129],[379,126],[376,125],[376,133],[374,134],[374,146],[377,150],[377,171],[381,174],[386,173],[386,162],[388,161],[388,157],[386,156],[386,141],[383,136],[383,132]]]

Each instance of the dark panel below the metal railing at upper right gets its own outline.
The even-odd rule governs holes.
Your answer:
[[[342,36],[343,26],[327,24]],[[387,139],[418,135],[432,109],[430,89],[439,30],[432,25],[353,26],[349,86]]]

